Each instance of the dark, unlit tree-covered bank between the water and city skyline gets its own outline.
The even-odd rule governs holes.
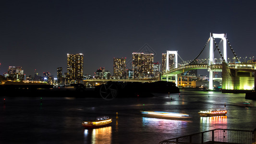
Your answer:
[[[171,82],[154,83],[108,82],[96,87],[83,84],[72,86],[42,85],[0,85],[3,96],[54,96],[54,97],[152,97],[152,93],[179,93],[179,88]]]

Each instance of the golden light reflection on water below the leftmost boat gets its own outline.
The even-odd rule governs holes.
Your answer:
[[[84,139],[85,144],[111,144],[112,141],[112,127],[103,127],[98,129],[85,129]]]

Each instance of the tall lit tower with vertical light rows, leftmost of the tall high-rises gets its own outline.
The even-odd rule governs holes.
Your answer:
[[[80,83],[83,79],[84,72],[84,55],[67,54],[67,78],[68,84]]]

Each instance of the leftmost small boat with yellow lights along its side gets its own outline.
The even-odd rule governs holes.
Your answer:
[[[112,122],[112,119],[108,116],[101,116],[97,117],[97,120],[89,120],[89,121],[83,121],[82,126],[85,128],[101,128],[109,126]]]

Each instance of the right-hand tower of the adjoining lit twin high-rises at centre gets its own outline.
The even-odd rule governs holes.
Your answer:
[[[154,54],[144,54],[144,78],[153,77]]]

